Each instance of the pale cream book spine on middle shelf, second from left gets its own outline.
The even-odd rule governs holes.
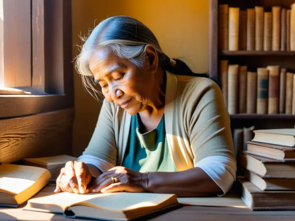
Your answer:
[[[238,111],[238,69],[239,65],[228,65],[227,110],[229,114],[235,114]]]

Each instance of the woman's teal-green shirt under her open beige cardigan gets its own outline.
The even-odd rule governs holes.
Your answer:
[[[125,152],[122,166],[139,172],[175,172],[176,167],[167,144],[164,114],[158,126],[147,133],[140,133],[140,124],[138,114],[133,115],[129,149]]]

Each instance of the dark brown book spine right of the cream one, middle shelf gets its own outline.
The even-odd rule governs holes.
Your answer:
[[[247,66],[239,68],[239,113],[246,113],[247,102]]]

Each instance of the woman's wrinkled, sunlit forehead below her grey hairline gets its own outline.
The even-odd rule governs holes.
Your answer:
[[[125,59],[118,57],[114,52],[105,48],[95,50],[89,59],[89,68],[94,75],[105,75],[124,67],[126,67]]]

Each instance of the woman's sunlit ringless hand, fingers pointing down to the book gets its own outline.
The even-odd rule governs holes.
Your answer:
[[[68,161],[56,179],[55,193],[63,192],[86,193],[86,188],[91,181],[91,172],[82,161]]]

